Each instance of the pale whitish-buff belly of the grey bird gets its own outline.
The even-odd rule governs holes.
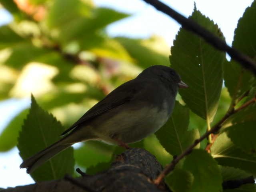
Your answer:
[[[95,134],[105,142],[111,143],[108,138],[112,137],[129,144],[153,134],[166,123],[168,118],[168,110],[165,107],[162,110],[158,108],[126,110],[104,121],[104,124],[98,126]]]

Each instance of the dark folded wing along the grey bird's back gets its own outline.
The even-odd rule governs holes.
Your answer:
[[[70,128],[65,130],[61,136],[64,136],[78,125],[86,123],[89,120],[107,112],[108,110],[129,102],[141,89],[145,88],[144,83],[137,83],[135,80],[130,80],[118,88],[110,92],[103,100],[94,105],[88,110],[77,122]]]

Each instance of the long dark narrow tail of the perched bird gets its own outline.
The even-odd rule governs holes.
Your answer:
[[[46,162],[47,160],[54,157],[56,154],[58,154],[62,150],[72,145],[72,143],[64,144],[63,142],[64,139],[65,138],[62,138],[61,140],[48,146],[47,148],[38,152],[32,157],[24,160],[24,162],[20,164],[20,168],[27,168],[27,173],[34,171],[36,168],[41,166],[44,162]]]

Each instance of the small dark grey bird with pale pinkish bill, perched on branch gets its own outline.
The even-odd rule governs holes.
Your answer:
[[[61,139],[24,160],[31,173],[77,142],[100,140],[129,148],[161,128],[170,118],[178,88],[187,88],[172,68],[153,65],[125,82],[90,108],[61,134]]]

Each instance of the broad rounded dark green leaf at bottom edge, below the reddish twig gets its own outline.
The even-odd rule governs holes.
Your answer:
[[[183,169],[191,172],[194,176],[190,192],[216,192],[222,189],[220,168],[205,150],[194,149],[185,159]]]

